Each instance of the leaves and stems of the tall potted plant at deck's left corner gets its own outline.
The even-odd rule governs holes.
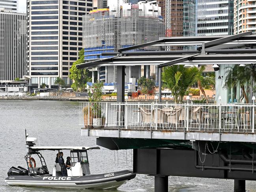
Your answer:
[[[97,81],[88,91],[89,101],[92,102],[92,113],[95,118],[101,118],[101,105],[98,103],[102,100],[102,89],[103,89],[103,82]]]

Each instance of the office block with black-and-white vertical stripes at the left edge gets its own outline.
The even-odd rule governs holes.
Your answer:
[[[26,14],[0,11],[0,81],[26,72]]]

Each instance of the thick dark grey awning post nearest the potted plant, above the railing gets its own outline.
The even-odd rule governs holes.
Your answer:
[[[125,66],[117,66],[117,78],[116,78],[116,92],[117,102],[124,102],[124,87],[125,87]]]

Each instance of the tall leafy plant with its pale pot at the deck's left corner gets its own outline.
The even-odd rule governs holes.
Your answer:
[[[90,101],[90,114],[92,114],[92,125],[93,128],[99,129],[103,128],[105,125],[105,114],[102,113],[102,107],[99,103],[102,100],[102,89],[103,82],[97,81],[88,91],[89,101]],[[90,117],[89,117],[90,119]]]

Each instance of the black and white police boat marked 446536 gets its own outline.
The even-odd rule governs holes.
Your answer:
[[[92,175],[89,169],[87,151],[99,149],[99,147],[36,147],[35,142],[37,142],[36,138],[29,138],[26,135],[28,152],[24,158],[27,168],[11,167],[7,173],[8,177],[5,179],[8,185],[116,189],[136,176],[131,170]],[[62,176],[59,163],[54,164],[52,174],[49,173],[45,158],[41,153],[44,150],[70,151],[71,167],[67,169],[67,176]],[[35,158],[39,160],[39,166]]]

